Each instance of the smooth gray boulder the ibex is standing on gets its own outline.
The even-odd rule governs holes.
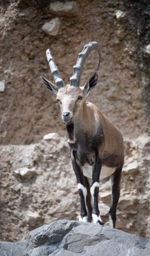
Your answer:
[[[0,256],[148,256],[149,238],[87,222],[59,220],[28,233],[25,241],[1,242]]]

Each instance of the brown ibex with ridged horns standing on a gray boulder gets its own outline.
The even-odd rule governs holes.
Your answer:
[[[100,44],[90,42],[78,55],[73,67],[70,84],[65,83],[58,72],[50,49],[46,56],[55,84],[43,77],[44,85],[57,94],[61,107],[61,117],[66,125],[67,139],[72,154],[72,166],[78,183],[81,212],[80,221],[103,225],[98,206],[99,180],[111,177],[112,195],[109,212],[110,227],[115,228],[116,209],[120,194],[120,180],[124,161],[121,132],[102,112],[86,98],[98,82],[98,74],[93,73],[87,83],[80,87],[80,77],[84,62],[91,51],[99,54]],[[92,203],[91,203],[92,195]],[[87,207],[86,207],[87,206]]]

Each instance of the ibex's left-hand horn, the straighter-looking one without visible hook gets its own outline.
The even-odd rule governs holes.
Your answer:
[[[57,65],[54,62],[54,59],[52,57],[50,49],[47,49],[46,57],[47,57],[47,61],[50,66],[50,69],[51,69],[52,76],[54,77],[55,84],[57,85],[58,88],[65,86],[65,83],[64,83],[61,75],[59,74]]]

